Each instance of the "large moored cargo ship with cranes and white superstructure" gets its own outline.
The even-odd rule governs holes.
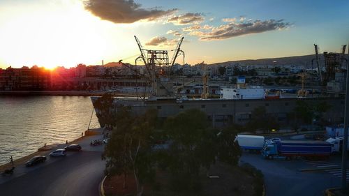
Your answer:
[[[181,43],[184,38],[179,40],[177,49],[174,50],[174,56],[171,63],[168,61],[168,52],[165,50],[144,50],[140,41],[135,36],[135,40],[140,48],[140,56],[136,59],[144,62],[147,69],[147,75],[140,75],[137,70],[135,73],[147,78],[150,87],[149,96],[132,96],[113,98],[113,111],[117,112],[121,106],[126,106],[133,114],[142,115],[147,110],[154,109],[158,111],[158,117],[165,119],[168,116],[174,116],[189,109],[198,109],[207,114],[212,126],[227,126],[230,124],[244,125],[251,120],[251,114],[256,107],[265,107],[268,115],[274,116],[279,123],[290,123],[288,115],[295,110],[298,100],[304,100],[306,103],[326,102],[331,105],[325,118],[331,122],[341,122],[343,120],[344,98],[289,98],[281,97],[281,93],[267,93],[262,88],[246,88],[244,77],[238,78],[236,88],[221,88],[220,98],[209,98],[209,74],[205,71],[202,76],[202,93],[200,98],[188,98],[181,93],[185,83],[181,86],[174,86],[171,82],[171,70],[178,54],[181,51]],[[147,52],[147,56],[145,54]],[[184,52],[183,52],[184,55]],[[119,61],[119,63],[122,63]],[[164,66],[165,65],[165,66]],[[125,66],[127,66],[125,64]],[[99,97],[91,97],[98,121],[101,127],[105,126],[105,120],[99,114],[96,108],[96,100]]]

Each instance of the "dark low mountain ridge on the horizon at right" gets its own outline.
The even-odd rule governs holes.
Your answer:
[[[320,65],[324,65],[323,54],[319,54],[320,57]],[[212,63],[211,66],[226,66],[235,63],[241,63],[242,65],[306,65],[306,67],[311,66],[311,60],[315,58],[315,54],[309,54],[304,56],[288,56],[288,57],[278,57],[278,58],[270,58],[270,59],[248,59],[248,60],[239,60],[239,61],[226,61],[222,63]],[[348,54],[346,54],[346,58],[348,59]],[[316,65],[316,61],[313,61],[313,66]]]

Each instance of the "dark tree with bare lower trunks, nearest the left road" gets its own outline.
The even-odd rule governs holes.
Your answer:
[[[151,151],[157,113],[148,110],[142,116],[133,115],[127,107],[118,107],[116,128],[105,147],[103,158],[107,160],[105,172],[123,175],[133,174],[137,195],[144,190],[144,183],[154,178],[154,159]]]

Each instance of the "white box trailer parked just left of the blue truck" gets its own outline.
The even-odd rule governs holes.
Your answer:
[[[259,135],[237,135],[239,146],[248,151],[261,151],[265,144],[265,137]]]

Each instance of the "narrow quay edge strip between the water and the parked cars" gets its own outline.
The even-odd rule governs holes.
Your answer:
[[[101,134],[100,131],[101,131],[101,128],[85,130],[84,136],[78,137],[75,140],[68,142],[68,144],[74,144],[74,143],[82,141],[82,140],[87,140],[90,136]],[[44,146],[41,146],[38,148],[38,151],[31,153],[27,156],[24,156],[22,158],[18,158],[16,160],[13,160],[13,164],[15,165],[15,167],[17,165],[23,165],[32,157],[43,155],[43,154],[47,153],[47,151],[51,151],[52,149],[57,148],[57,146],[59,146],[59,145],[62,145],[62,144],[49,144],[45,147],[45,149],[43,149]],[[42,150],[40,150],[40,149],[42,149]],[[10,167],[12,167],[12,165],[10,165],[10,163],[5,163],[3,165],[0,165],[0,171],[2,172],[3,170],[8,169]]]

